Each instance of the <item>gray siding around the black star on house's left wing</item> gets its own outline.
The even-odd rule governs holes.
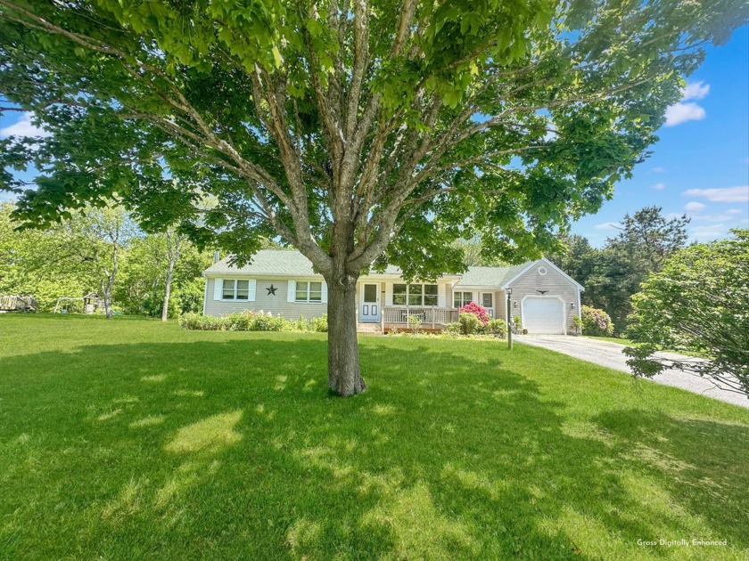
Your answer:
[[[249,278],[228,276],[226,278]],[[296,302],[287,302],[286,295],[289,287],[289,281],[286,279],[275,280],[257,280],[254,302],[225,302],[213,299],[213,288],[216,279],[207,279],[208,299],[205,304],[206,315],[226,315],[232,312],[242,312],[243,310],[263,310],[271,312],[274,315],[280,313],[284,318],[289,320],[298,320],[300,315],[305,318],[315,318],[327,312],[326,304],[297,304]],[[276,296],[268,296],[268,287],[273,284],[276,288]]]

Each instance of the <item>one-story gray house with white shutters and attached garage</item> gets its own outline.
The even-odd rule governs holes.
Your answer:
[[[290,320],[326,312],[327,287],[298,251],[264,249],[243,267],[217,260],[203,272],[203,314],[221,316],[263,310]],[[583,287],[546,258],[506,267],[468,267],[462,274],[407,283],[398,267],[363,275],[357,285],[360,330],[385,332],[407,328],[416,315],[424,329],[442,329],[457,321],[458,309],[475,302],[492,317],[520,316],[531,334],[574,332]]]

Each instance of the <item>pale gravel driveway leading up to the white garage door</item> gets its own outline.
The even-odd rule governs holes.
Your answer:
[[[619,345],[618,343],[597,341],[588,337],[569,337],[564,335],[519,335],[514,336],[514,340],[526,345],[542,346],[557,353],[569,354],[583,361],[593,362],[594,364],[612,368],[613,370],[632,373],[630,367],[627,366],[627,357],[621,354],[621,349],[624,348],[624,345]],[[658,355],[666,359],[684,358],[680,354],[673,353],[659,353]],[[684,370],[665,370],[652,379],[658,384],[680,387],[695,394],[707,395],[715,399],[720,399],[721,402],[733,403],[734,405],[749,409],[749,398],[746,398],[745,395],[716,387],[709,380],[700,378]]]

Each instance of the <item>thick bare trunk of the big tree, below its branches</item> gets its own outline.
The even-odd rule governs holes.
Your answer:
[[[328,388],[343,397],[366,390],[358,362],[357,278],[336,275],[328,284]]]

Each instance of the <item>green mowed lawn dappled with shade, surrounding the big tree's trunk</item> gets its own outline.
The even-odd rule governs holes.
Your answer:
[[[0,316],[0,557],[747,558],[749,411],[531,346],[360,347],[343,400],[319,335]]]

